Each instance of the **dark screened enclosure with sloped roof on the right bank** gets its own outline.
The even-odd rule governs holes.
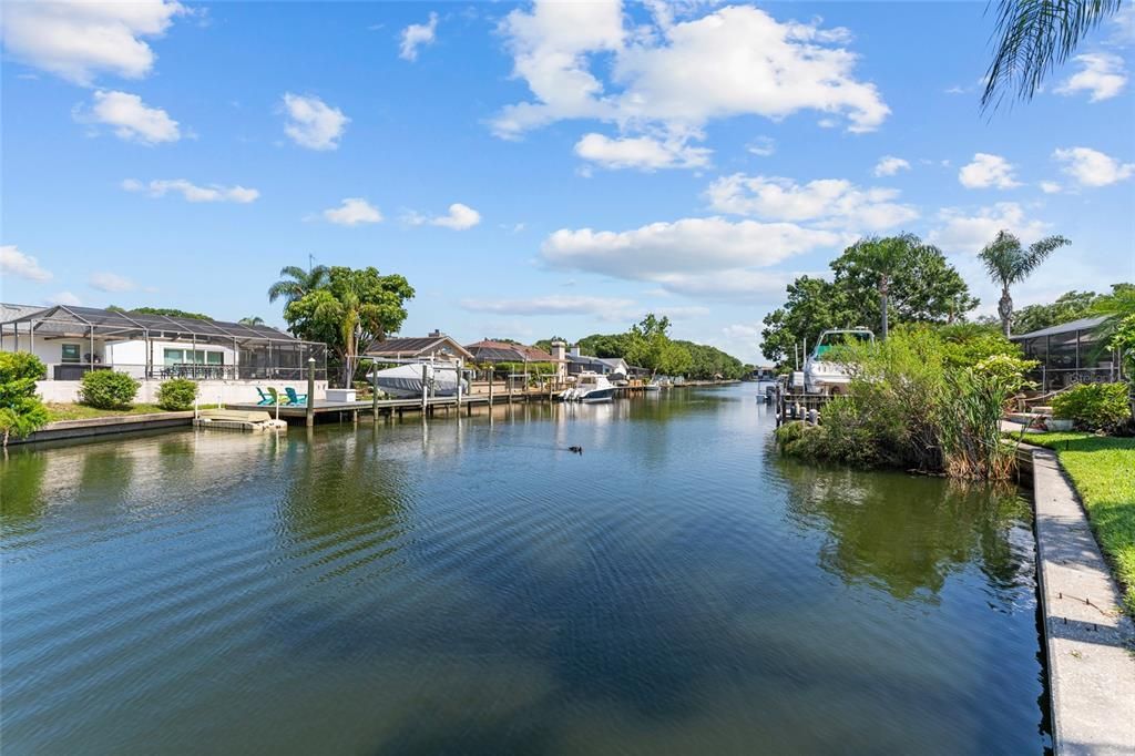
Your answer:
[[[1020,344],[1025,356],[1041,364],[1033,379],[1044,390],[1075,383],[1119,380],[1123,361],[1108,350],[1099,335],[1104,318],[1081,318],[1009,338]]]

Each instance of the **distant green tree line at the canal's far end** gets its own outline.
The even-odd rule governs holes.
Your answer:
[[[648,313],[622,334],[591,334],[577,341],[583,354],[597,358],[621,358],[629,364],[654,373],[686,376],[696,380],[722,377],[731,380],[751,370],[737,358],[715,346],[670,337],[670,319]],[[536,343],[548,351],[552,342],[568,339],[554,336]]]

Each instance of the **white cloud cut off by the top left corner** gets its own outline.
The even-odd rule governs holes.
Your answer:
[[[154,53],[143,37],[160,37],[174,17],[190,12],[167,0],[6,2],[0,33],[8,54],[75,84],[99,72],[141,78]]]

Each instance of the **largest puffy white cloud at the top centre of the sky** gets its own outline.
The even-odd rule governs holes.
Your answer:
[[[856,78],[857,56],[839,47],[842,30],[782,24],[750,6],[681,22],[656,12],[648,27],[629,23],[619,0],[538,0],[510,12],[499,31],[532,98],[506,106],[494,132],[516,137],[585,118],[616,124],[627,136],[661,129],[700,138],[711,119],[780,120],[804,110],[867,132],[890,112],[874,84]]]

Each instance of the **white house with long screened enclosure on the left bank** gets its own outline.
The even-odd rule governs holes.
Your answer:
[[[168,378],[196,380],[203,398],[234,403],[255,401],[257,387],[306,390],[309,371],[327,386],[327,345],[269,326],[61,304],[3,304],[0,318],[0,351],[31,352],[47,366],[39,383],[47,401],[75,401],[92,370],[136,378],[140,402],[153,401]]]

